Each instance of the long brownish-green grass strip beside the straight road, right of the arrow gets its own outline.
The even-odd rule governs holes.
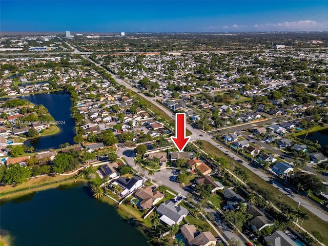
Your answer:
[[[278,191],[276,188],[274,188],[272,185],[267,183],[265,180],[263,180],[259,176],[255,175],[249,169],[243,167],[239,162],[235,161],[234,159],[232,159],[229,156],[224,155],[224,153],[221,150],[217,149],[215,146],[213,146],[209,142],[203,141],[203,143],[204,143],[204,150],[207,150],[206,152],[208,154],[212,154],[213,156],[224,157],[228,161],[233,162],[237,167],[240,167],[242,170],[244,170],[248,174],[248,176],[251,178],[253,183],[257,183],[257,185],[272,191],[274,194],[274,197],[278,197],[278,195],[280,195],[281,196],[280,201],[286,202],[294,210],[296,210],[296,208],[297,208],[296,201],[294,201],[290,197],[286,196],[282,192]],[[228,166],[228,169],[232,171],[233,167]],[[322,243],[328,244],[327,224],[321,218],[317,217],[316,215],[309,212],[308,210],[306,210],[304,208],[302,208],[302,210],[304,210],[310,218],[309,220],[304,220],[302,228],[304,228],[306,231],[308,231],[310,233],[312,231],[318,231],[323,237]]]

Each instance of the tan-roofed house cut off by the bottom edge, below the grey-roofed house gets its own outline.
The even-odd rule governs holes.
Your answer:
[[[181,234],[191,246],[215,246],[216,238],[211,232],[199,232],[193,224],[184,224]]]

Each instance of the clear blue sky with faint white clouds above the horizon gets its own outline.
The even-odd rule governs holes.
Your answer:
[[[327,1],[0,1],[0,31],[328,31]]]

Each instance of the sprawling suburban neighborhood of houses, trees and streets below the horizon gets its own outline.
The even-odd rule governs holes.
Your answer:
[[[152,245],[326,245],[327,38],[248,35],[1,36],[2,196],[81,182]]]

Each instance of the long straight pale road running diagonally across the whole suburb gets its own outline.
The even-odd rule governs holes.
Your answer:
[[[74,47],[72,47],[70,44],[68,44],[72,49],[75,49]],[[90,60],[93,64],[95,64],[97,67],[104,69],[104,67],[102,67],[101,65],[95,63],[95,61],[93,61],[92,59],[90,59],[89,57],[82,55],[85,59]],[[111,74],[111,76],[115,79],[116,83],[122,86],[125,86],[126,88],[138,93],[138,89],[135,87],[132,87],[129,83],[127,83],[125,80],[117,77],[115,74],[109,72],[108,70],[106,70],[109,74]],[[145,98],[146,100],[149,101],[149,103],[154,104],[153,102],[153,98],[152,97],[148,97],[142,93],[138,93],[141,97]],[[174,115],[172,113],[172,111],[170,111],[168,108],[160,105],[160,104],[156,104],[156,106],[158,108],[160,108],[163,112],[165,112],[167,115],[169,115],[169,117],[171,117],[172,119],[174,119]],[[237,156],[235,153],[233,153],[232,151],[230,151],[229,149],[224,148],[223,146],[219,145],[216,141],[214,141],[208,134],[206,134],[205,132],[195,129],[192,126],[190,126],[189,124],[186,125],[186,128],[192,133],[191,136],[191,141],[195,141],[198,139],[204,140],[204,141],[208,141],[210,142],[212,145],[216,146],[219,150],[221,150],[223,153],[227,153],[230,157],[232,157],[235,160],[239,160],[241,159],[239,156]],[[200,136],[202,135],[202,136]],[[261,143],[262,144],[262,143]],[[264,179],[265,181],[270,180],[271,178],[263,173],[260,169],[252,167],[250,165],[249,162],[246,162],[244,160],[242,160],[241,164],[249,169],[251,172],[253,172],[255,175],[261,177],[262,179]],[[311,204],[310,202],[304,200],[300,195],[292,193],[289,194],[288,192],[286,192],[283,187],[281,185],[274,185],[275,188],[277,188],[279,191],[281,191],[282,193],[284,193],[285,195],[289,196],[290,198],[292,198],[296,203],[300,203],[301,206],[303,206],[305,209],[309,210],[310,212],[312,212],[313,214],[315,214],[316,216],[318,216],[319,218],[321,218],[322,220],[324,220],[325,222],[328,222],[328,215],[325,213],[324,210],[322,210],[321,208],[314,206],[313,204]]]

